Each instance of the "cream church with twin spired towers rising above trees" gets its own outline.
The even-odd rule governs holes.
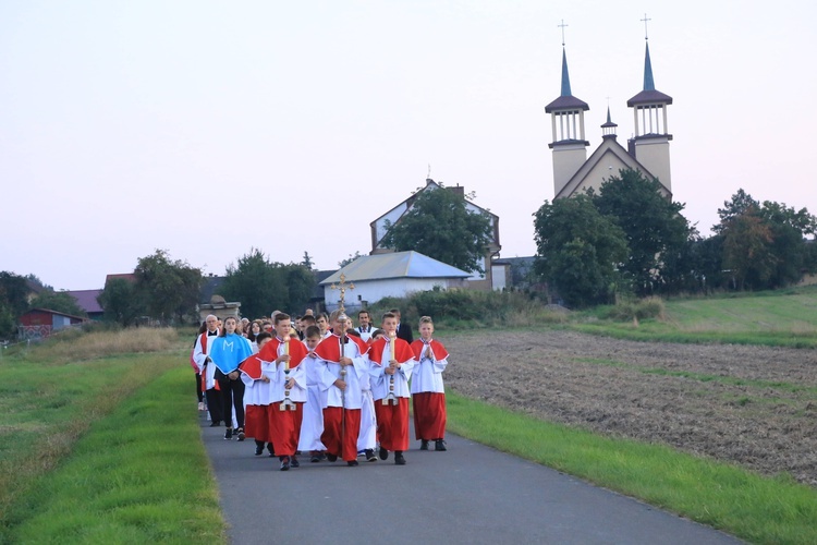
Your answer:
[[[626,149],[617,141],[615,128],[607,108],[607,122],[601,125],[601,144],[587,158],[584,112],[589,106],[573,96],[568,73],[568,55],[562,44],[561,95],[545,107],[550,114],[552,142],[548,146],[553,155],[553,201],[569,197],[593,187],[598,191],[611,175],[621,169],[638,170],[648,180],[657,180],[661,194],[672,198],[670,175],[670,141],[667,128],[667,107],[672,97],[656,89],[649,43],[644,58],[644,88],[627,100],[633,109],[634,136]]]

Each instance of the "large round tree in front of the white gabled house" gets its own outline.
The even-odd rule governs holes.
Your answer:
[[[424,191],[393,225],[387,225],[386,247],[414,250],[467,271],[483,272],[491,242],[491,221],[486,214],[470,211],[465,198],[444,187]]]

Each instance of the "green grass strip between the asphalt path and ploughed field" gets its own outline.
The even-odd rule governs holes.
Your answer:
[[[661,445],[607,438],[447,391],[452,433],[753,543],[817,543],[817,491]]]

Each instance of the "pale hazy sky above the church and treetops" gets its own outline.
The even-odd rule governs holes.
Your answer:
[[[553,197],[562,29],[587,155],[643,88],[645,23],[673,199],[704,235],[739,190],[817,213],[805,1],[0,2],[0,270],[98,289],[157,249],[223,275],[320,269],[429,177],[534,255]],[[560,27],[559,25],[568,25]]]

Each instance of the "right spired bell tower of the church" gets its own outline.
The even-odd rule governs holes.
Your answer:
[[[649,60],[649,43],[647,43],[644,58],[644,90],[627,100],[627,107],[633,109],[635,121],[635,136],[627,142],[627,150],[654,177],[658,178],[670,194],[672,193],[670,177],[672,135],[667,129],[667,107],[671,104],[671,96],[656,90],[653,64]]]

